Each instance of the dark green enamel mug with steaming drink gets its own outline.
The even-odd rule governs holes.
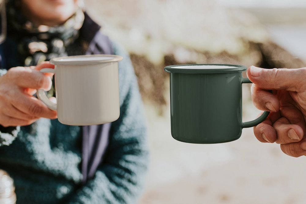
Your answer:
[[[266,119],[265,111],[242,122],[242,65],[191,64],[166,66],[170,72],[171,135],[186,143],[211,144],[239,139],[242,128]]]

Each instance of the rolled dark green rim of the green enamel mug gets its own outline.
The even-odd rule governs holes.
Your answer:
[[[217,66],[230,66],[233,68],[221,68],[221,69],[177,69],[175,67],[181,66],[203,66],[203,65],[217,65]],[[183,64],[183,65],[170,65],[164,68],[169,73],[183,73],[183,74],[219,74],[219,73],[232,73],[232,72],[243,72],[247,70],[244,65],[230,65],[230,64]]]

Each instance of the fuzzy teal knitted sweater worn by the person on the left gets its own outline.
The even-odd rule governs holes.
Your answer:
[[[95,177],[80,186],[80,127],[40,118],[0,133],[0,169],[13,178],[20,204],[136,203],[147,170],[142,103],[129,56],[118,45],[120,117]],[[1,70],[4,72],[4,70]]]

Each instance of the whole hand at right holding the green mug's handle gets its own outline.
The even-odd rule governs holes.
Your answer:
[[[253,82],[252,101],[256,108],[271,111],[254,127],[263,143],[278,143],[293,157],[306,155],[306,68],[247,70]],[[273,94],[267,90],[273,90]]]

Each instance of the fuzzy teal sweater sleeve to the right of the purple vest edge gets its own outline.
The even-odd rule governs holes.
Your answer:
[[[95,177],[73,195],[69,204],[136,203],[148,165],[145,120],[137,79],[129,56],[117,45],[120,117],[112,123],[110,143]]]

